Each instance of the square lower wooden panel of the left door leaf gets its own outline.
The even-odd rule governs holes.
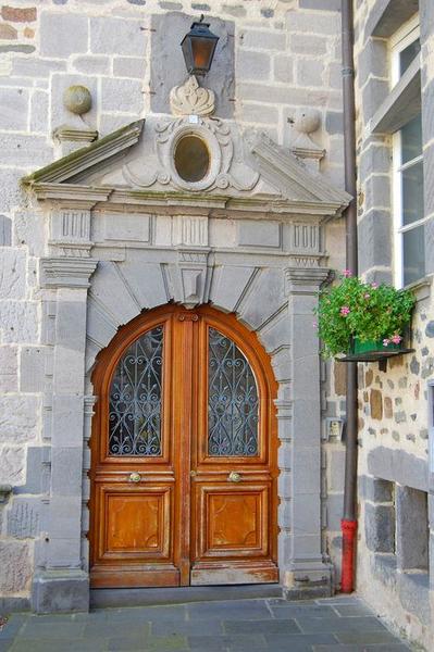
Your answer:
[[[173,487],[100,485],[99,562],[170,560]]]

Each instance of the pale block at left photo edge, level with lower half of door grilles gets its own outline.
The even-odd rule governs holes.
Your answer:
[[[32,441],[37,436],[39,398],[0,396],[0,439],[9,443]]]

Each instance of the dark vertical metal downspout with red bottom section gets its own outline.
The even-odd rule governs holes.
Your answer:
[[[346,216],[347,268],[358,273],[357,243],[357,179],[356,179],[356,109],[354,67],[354,16],[352,0],[342,0],[342,51],[344,93],[344,152],[345,189],[354,198]],[[355,586],[355,553],[357,534],[357,362],[347,364],[346,391],[346,450],[344,514],[340,522],[343,535],[343,560],[340,590],[350,593]]]

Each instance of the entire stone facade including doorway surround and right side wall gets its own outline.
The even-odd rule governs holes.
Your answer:
[[[257,337],[277,384],[280,582],[289,598],[338,588],[345,373],[320,362],[312,309],[330,269],[345,266],[342,213],[350,198],[339,4],[1,5],[4,609],[88,609],[89,523],[96,519],[89,441],[102,404],[95,374],[125,328],[164,305],[200,321],[200,306],[210,304],[215,314],[234,314],[246,337]],[[422,113],[434,75],[429,4],[421,7]],[[355,9],[360,267],[372,280],[392,280],[392,127],[371,134],[370,125],[388,98],[388,39],[418,8],[359,0]],[[197,83],[186,74],[179,41],[202,12],[220,40],[210,73]],[[82,89],[77,97],[77,86],[88,95]],[[432,121],[430,111],[423,115],[430,179]],[[209,167],[199,180],[186,180],[176,163],[177,143],[187,136],[207,146]],[[427,193],[426,217],[430,201]],[[360,368],[358,573],[362,595],[422,643],[432,594],[426,551],[420,551],[425,565],[407,572],[413,569],[411,560],[402,561],[409,546],[402,525],[395,537],[394,519],[409,504],[414,517],[425,514],[431,487],[429,220],[424,228],[414,355],[387,373]],[[425,531],[425,525],[426,514],[410,529]],[[92,546],[90,537],[90,555]],[[234,580],[226,574],[223,581]]]

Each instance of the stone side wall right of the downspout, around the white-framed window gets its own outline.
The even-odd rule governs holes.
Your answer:
[[[413,289],[418,299],[410,354],[393,359],[387,371],[359,365],[359,551],[357,588],[411,640],[431,649],[433,570],[427,557],[406,564],[407,547],[434,527],[429,464],[430,381],[434,378],[432,289],[432,2],[420,0],[421,93],[424,141],[426,277]],[[418,11],[418,2],[363,0],[356,12],[356,103],[359,167],[359,262],[371,281],[393,281],[392,131],[372,133],[374,116],[389,97],[389,37]],[[399,106],[397,115],[399,116]],[[432,473],[432,469],[431,469]],[[402,502],[405,493],[414,501]],[[429,513],[430,512],[430,513]],[[411,529],[406,523],[414,516]],[[421,534],[421,531],[423,534]],[[431,554],[433,535],[431,534]],[[421,556],[423,554],[421,553]],[[430,584],[431,581],[431,584]],[[431,587],[431,590],[430,590]]]

